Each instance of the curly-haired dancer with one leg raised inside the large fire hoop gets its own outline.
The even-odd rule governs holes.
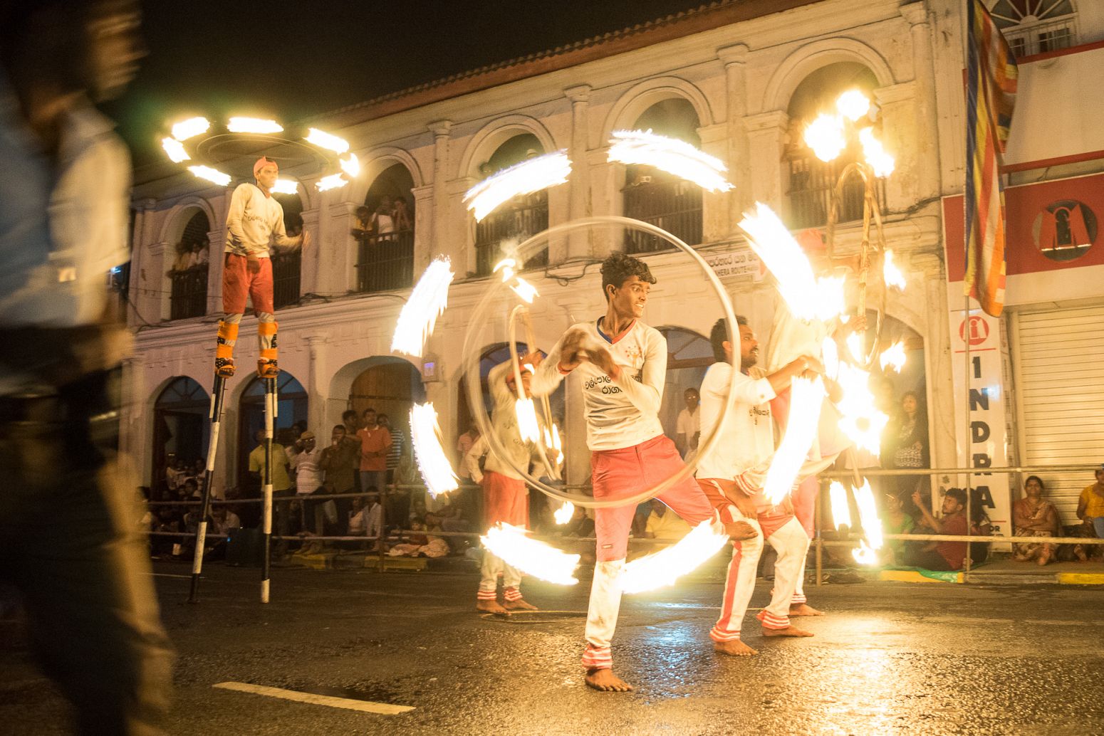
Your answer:
[[[631,499],[684,468],[675,442],[664,436],[659,423],[667,341],[658,330],[640,321],[655,282],[644,262],[624,253],[606,258],[602,264],[605,316],[567,330],[532,380],[533,394],[543,396],[577,371],[596,500]],[[692,478],[676,483],[658,498],[691,525],[714,515]],[[595,509],[597,562],[583,653],[586,684],[595,690],[633,689],[613,673],[609,641],[620,607],[617,578],[625,565],[635,511],[635,503]],[[729,531],[736,538],[755,534],[742,523],[730,525]]]

